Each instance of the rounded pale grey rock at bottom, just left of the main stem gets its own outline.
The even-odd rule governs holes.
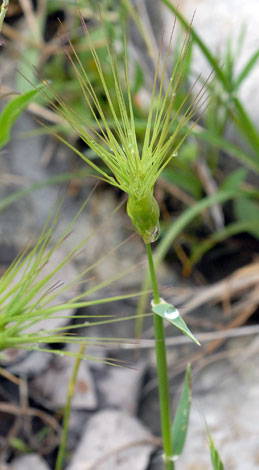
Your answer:
[[[67,470],[144,470],[153,450],[152,435],[136,418],[105,410],[89,419]]]

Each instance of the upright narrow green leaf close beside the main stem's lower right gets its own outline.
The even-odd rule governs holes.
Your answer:
[[[175,413],[174,422],[172,426],[172,449],[175,460],[176,457],[181,455],[183,452],[188,430],[191,399],[191,366],[190,364],[188,364],[185,373],[183,390],[181,393],[180,401]]]

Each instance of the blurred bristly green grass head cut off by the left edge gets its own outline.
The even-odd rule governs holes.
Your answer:
[[[82,321],[76,325],[67,325],[51,329],[51,320],[54,318],[68,318],[68,310],[76,310],[82,307],[103,304],[128,298],[131,295],[122,295],[117,297],[107,297],[99,299],[87,300],[87,296],[91,296],[99,289],[108,287],[116,279],[123,275],[127,275],[129,270],[99,282],[82,292],[74,295],[73,298],[60,301],[59,295],[66,293],[71,286],[82,285],[87,283],[91,271],[103,259],[109,256],[113,250],[106,253],[99,260],[83,271],[79,272],[75,278],[68,282],[59,281],[60,270],[66,266],[68,262],[78,256],[81,249],[87,241],[96,235],[97,229],[88,234],[77,246],[75,246],[64,259],[58,264],[52,266],[48,273],[41,275],[42,269],[51,263],[52,256],[55,251],[62,246],[75,221],[81,214],[85,204],[78,211],[71,224],[64,233],[53,242],[53,234],[56,230],[60,217],[61,204],[53,209],[46,224],[35,243],[29,244],[25,250],[20,253],[12,264],[7,268],[0,278],[0,350],[5,351],[8,348],[40,350],[58,355],[76,355],[74,353],[63,351],[63,349],[53,349],[51,345],[64,345],[65,343],[80,344],[87,340],[94,344],[105,344],[109,342],[109,338],[82,338],[79,334],[79,328],[84,326],[93,326],[103,324],[106,321],[113,322],[118,319],[107,318],[107,316],[80,315]],[[134,294],[133,294],[134,295]],[[78,318],[72,315],[69,319]],[[50,328],[38,329],[37,325],[42,320],[49,320]],[[35,329],[36,326],[36,329]],[[86,355],[81,355],[86,359]],[[94,360],[94,358],[91,357]],[[115,361],[116,362],[116,361]],[[112,359],[107,359],[107,363],[114,364]]]

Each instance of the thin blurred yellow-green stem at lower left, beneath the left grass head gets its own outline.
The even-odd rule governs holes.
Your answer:
[[[80,345],[80,348],[79,348],[79,351],[78,351],[79,355],[83,354],[83,352],[85,350],[85,346],[86,346],[86,343],[82,343]],[[63,469],[65,453],[66,453],[68,425],[69,425],[69,418],[70,418],[70,412],[71,412],[71,402],[72,402],[72,398],[73,398],[73,395],[74,395],[75,383],[76,383],[76,378],[77,378],[79,366],[81,364],[81,360],[82,360],[81,357],[76,358],[73,373],[71,375],[69,385],[68,385],[67,401],[66,401],[66,406],[65,406],[65,410],[64,410],[64,417],[63,417],[62,437],[61,437],[61,442],[60,442],[60,446],[59,446],[59,450],[58,450],[58,456],[57,456],[55,470],[62,470]]]

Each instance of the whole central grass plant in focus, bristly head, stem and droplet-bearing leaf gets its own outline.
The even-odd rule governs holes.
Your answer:
[[[168,84],[165,83],[169,52],[176,24],[174,22],[168,46],[165,48],[163,40],[161,41],[144,139],[143,143],[140,144],[136,133],[134,101],[130,87],[125,23],[123,40],[124,70],[122,72],[118,67],[116,51],[106,33],[106,25],[102,14],[100,13],[100,21],[108,57],[108,63],[105,64],[100,60],[94,47],[90,31],[82,14],[79,14],[82,28],[88,39],[102,95],[105,96],[106,108],[104,111],[87,70],[68,35],[66,35],[68,42],[66,54],[80,84],[85,106],[88,112],[90,110],[92,114],[92,121],[89,122],[84,116],[77,113],[73,107],[66,103],[63,97],[55,94],[55,92],[52,92],[52,107],[69,123],[87,147],[100,158],[102,165],[95,163],[59,136],[60,140],[74,150],[101,179],[128,195],[128,215],[135,230],[146,245],[154,297],[152,310],[156,339],[164,465],[166,470],[173,470],[174,460],[178,458],[178,455],[174,453],[173,437],[171,436],[164,319],[174,324],[194,342],[199,343],[180,317],[178,310],[173,305],[167,304],[159,296],[151,250],[151,243],[157,240],[159,236],[159,207],[154,197],[154,185],[163,169],[172,158],[177,156],[178,149],[195,125],[195,118],[197,114],[201,113],[204,106],[205,88],[202,87],[194,97],[192,96],[192,89],[187,91],[179,102],[182,74],[185,61],[188,58],[189,34],[186,35],[183,42],[169,82]],[[112,76],[112,84],[107,83],[107,69],[110,71],[109,76]],[[112,126],[110,124],[111,120],[113,122]],[[187,127],[190,120],[194,121],[192,121],[191,126]],[[95,123],[94,126],[91,125],[92,122]]]

